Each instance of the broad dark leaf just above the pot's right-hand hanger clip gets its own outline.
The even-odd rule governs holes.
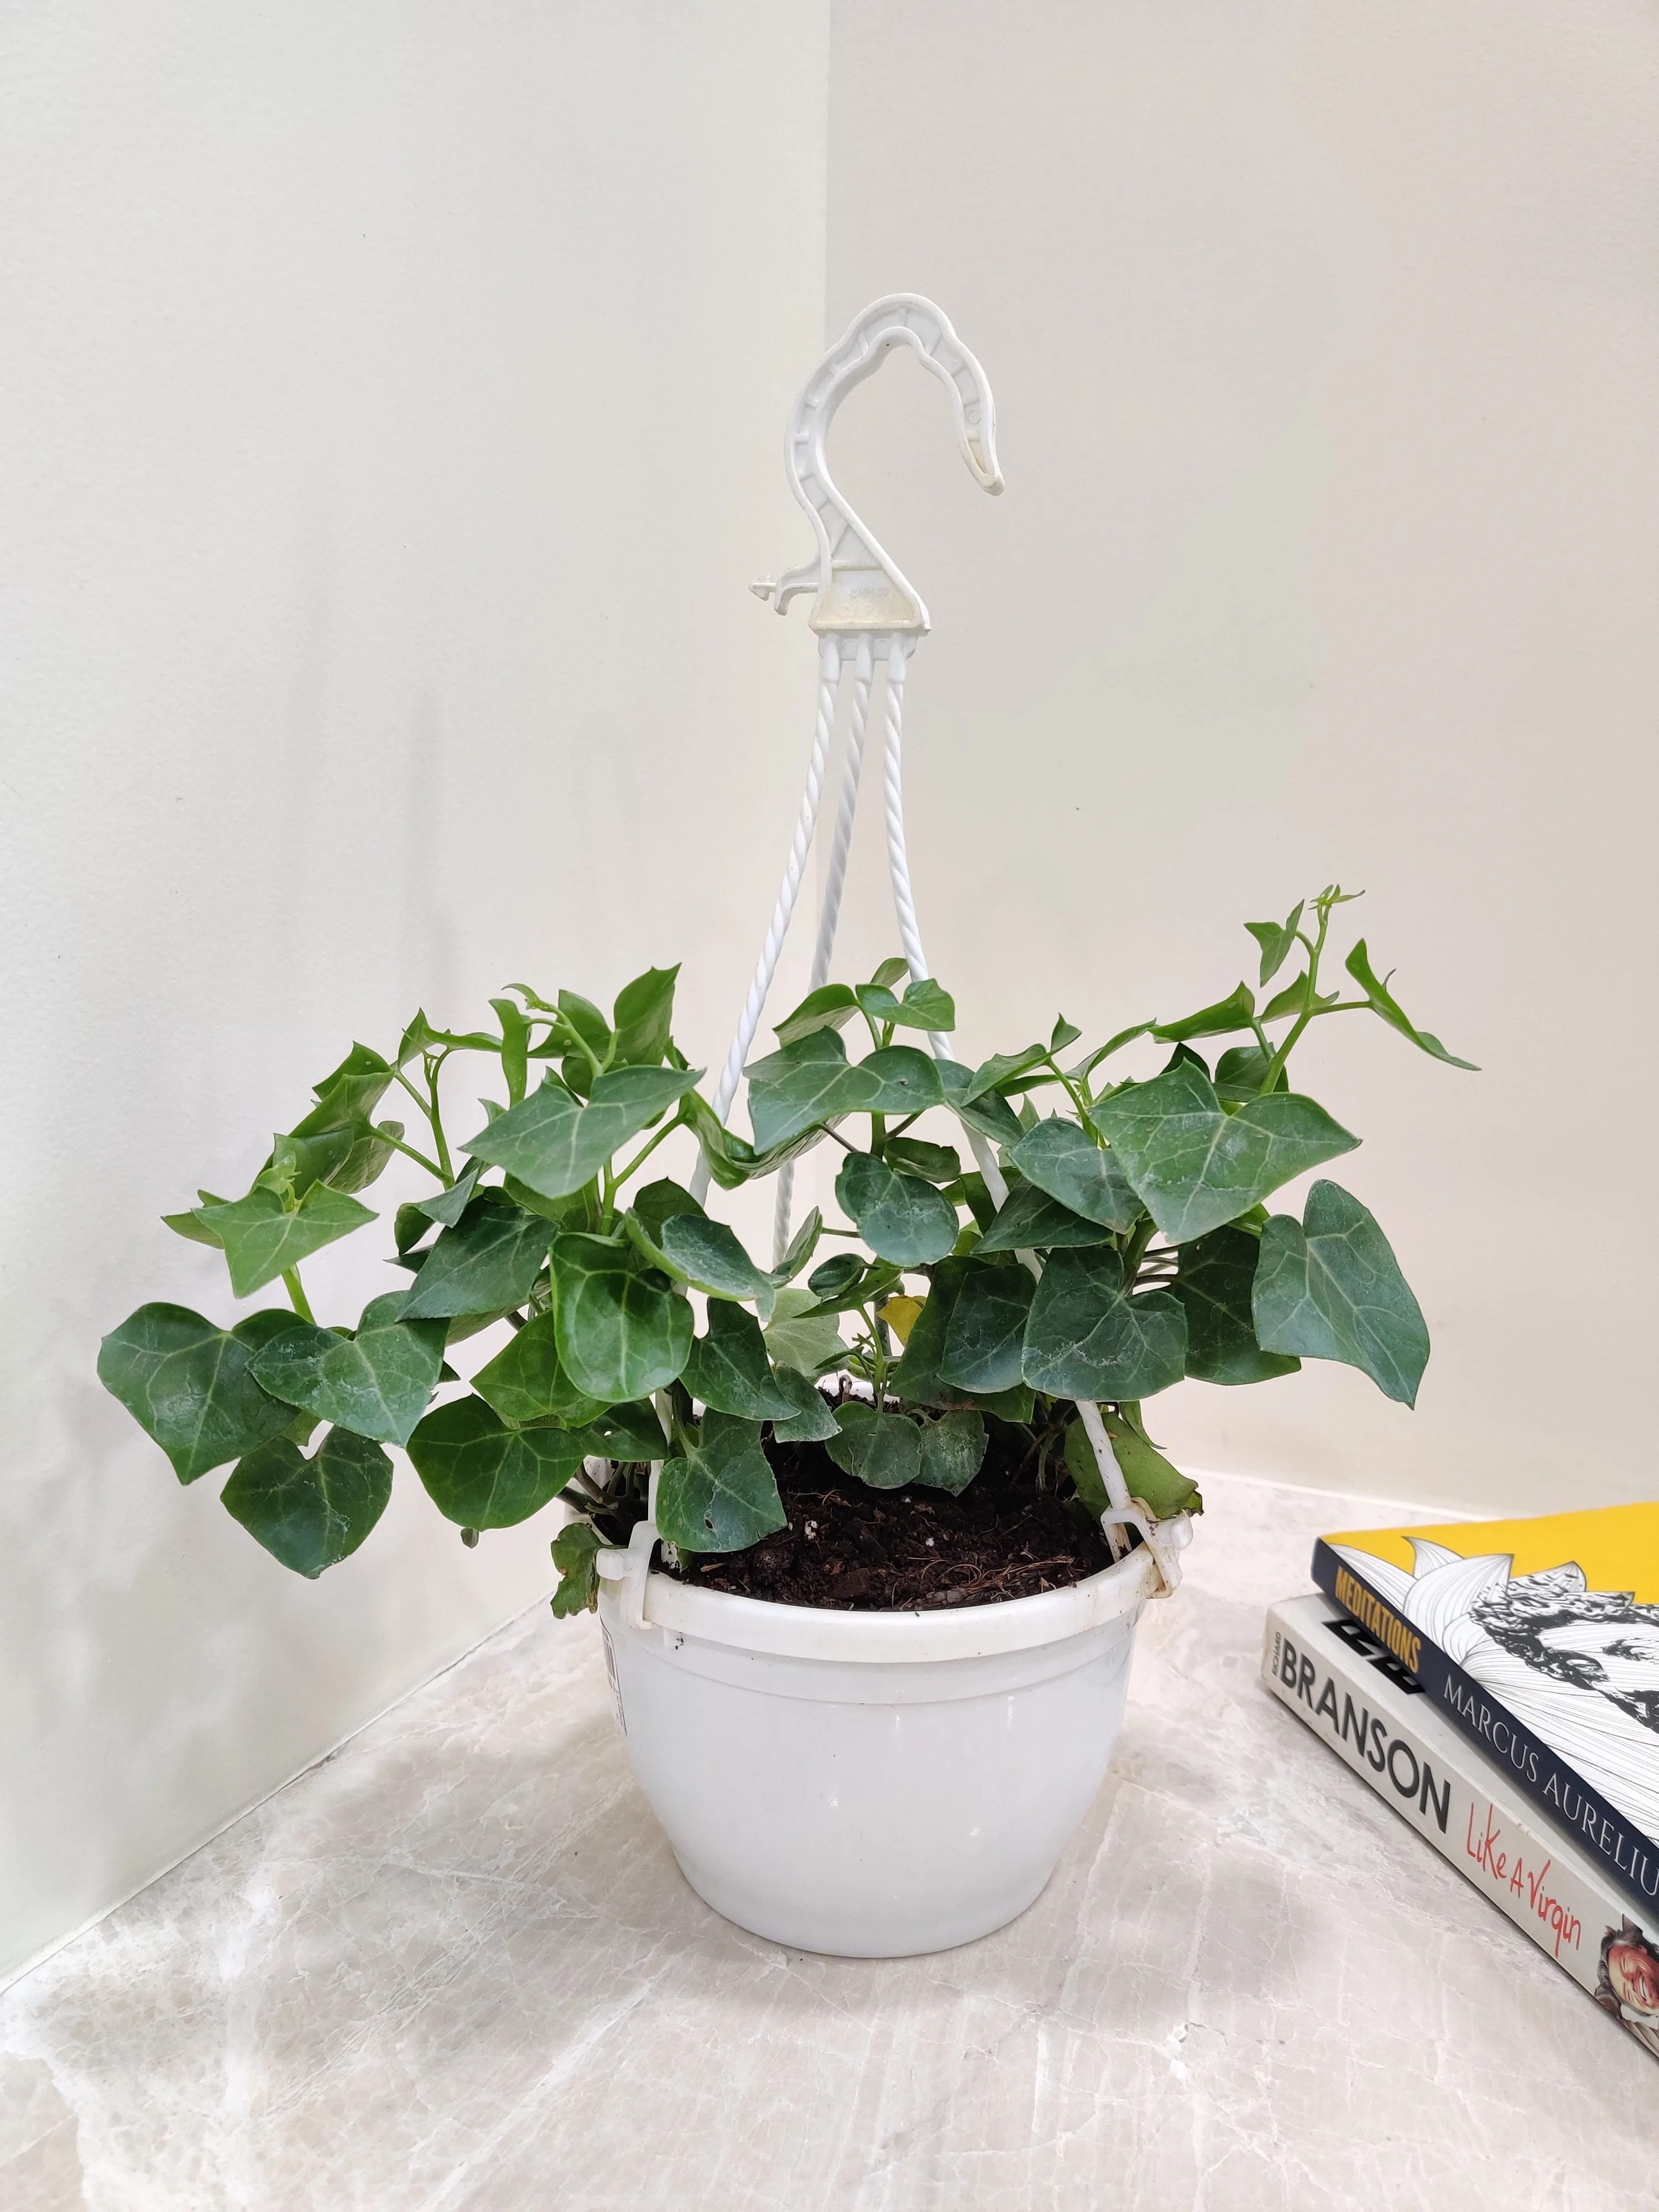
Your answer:
[[[1133,1298],[1117,1252],[1055,1252],[1031,1301],[1024,1378],[1051,1398],[1139,1400],[1186,1371],[1186,1314],[1166,1290]]]

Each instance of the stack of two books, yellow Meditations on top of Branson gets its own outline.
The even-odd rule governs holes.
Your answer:
[[[1659,1504],[1321,1537],[1261,1674],[1659,2057]]]

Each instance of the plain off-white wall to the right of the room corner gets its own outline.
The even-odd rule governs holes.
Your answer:
[[[998,502],[909,356],[834,456],[936,622],[911,858],[973,1040],[1199,1006],[1338,878],[1484,1071],[1369,1018],[1298,1055],[1433,1329],[1416,1416],[1310,1367],[1155,1433],[1652,1495],[1659,15],[836,0],[830,177],[832,334],[922,290],[998,394]]]

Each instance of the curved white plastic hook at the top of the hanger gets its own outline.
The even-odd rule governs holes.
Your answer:
[[[909,345],[949,387],[962,458],[973,480],[984,491],[1002,491],[991,385],[951,330],[951,319],[918,292],[894,292],[865,307],[841,345],[832,347],[807,378],[783,438],[790,491],[812,518],[818,557],[801,568],[787,568],[779,580],[750,584],[759,599],[772,599],[779,615],[796,593],[816,591],[807,619],[821,635],[854,630],[869,637],[927,637],[922,595],[847,507],[825,460],[836,407],[854,385],[876,374],[896,345]]]

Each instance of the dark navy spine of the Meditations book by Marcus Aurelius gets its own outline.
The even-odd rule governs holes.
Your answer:
[[[1314,1582],[1354,1615],[1360,1628],[1387,1644],[1436,1701],[1436,1710],[1460,1728],[1478,1752],[1495,1761],[1579,1849],[1590,1851],[1632,1905],[1652,1916],[1659,1907],[1659,1847],[1641,1829],[1593,1790],[1559,1752],[1517,1721],[1509,1705],[1473,1674],[1464,1674],[1431,1637],[1402,1621],[1323,1537],[1314,1544]]]

